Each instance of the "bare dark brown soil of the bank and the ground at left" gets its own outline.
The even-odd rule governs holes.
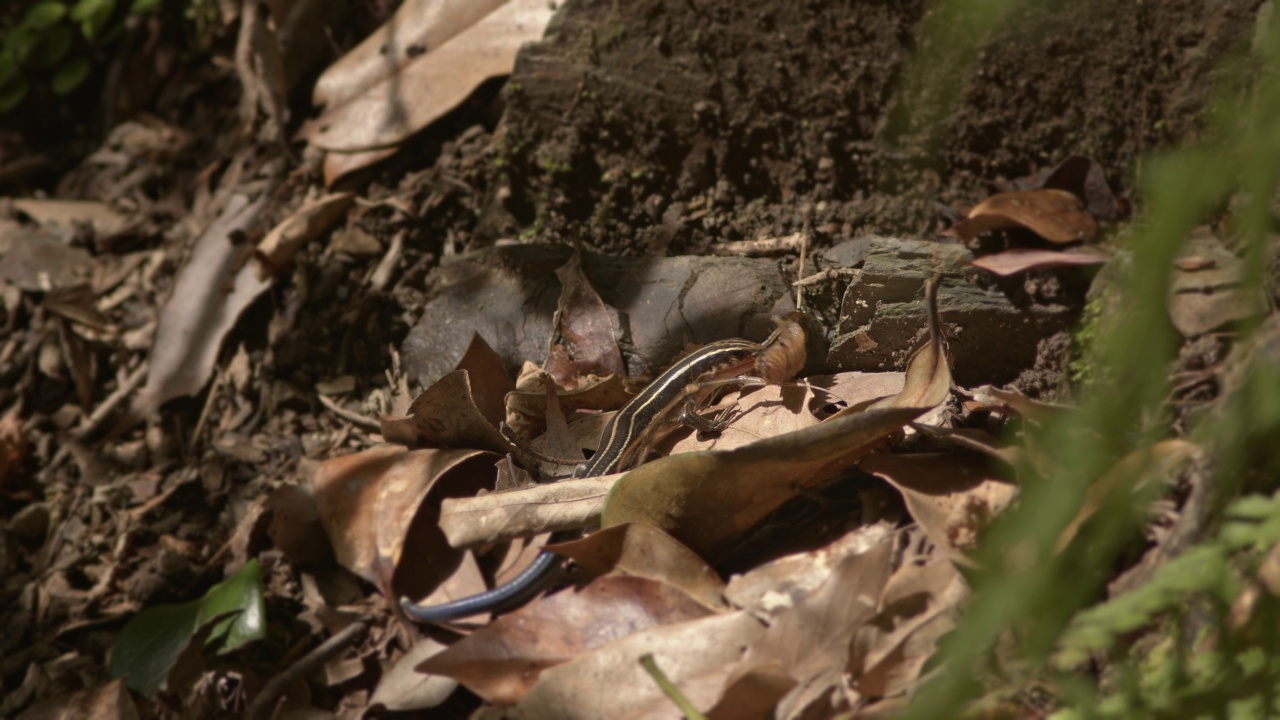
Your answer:
[[[379,19],[383,8],[375,5],[361,12]],[[108,606],[187,600],[191,588],[220,579],[210,557],[232,538],[248,501],[292,478],[300,455],[326,447],[317,437],[333,432],[333,420],[311,388],[344,374],[355,375],[361,397],[385,386],[392,348],[431,295],[430,272],[442,258],[513,238],[657,256],[799,231],[809,233],[814,251],[868,234],[932,241],[991,183],[1070,155],[1092,158],[1121,199],[1133,197],[1143,158],[1194,138],[1212,97],[1233,90],[1231,59],[1248,47],[1261,0],[1014,5],[996,29],[973,29],[989,38],[972,73],[955,77],[950,68],[920,76],[910,64],[932,47],[922,45],[919,28],[938,22],[918,1],[568,0],[504,85],[481,87],[410,151],[348,181],[371,200],[396,197],[416,210],[413,222],[385,209],[361,210],[361,227],[383,245],[407,232],[399,269],[385,292],[375,293],[362,278],[376,255],[334,260],[323,247],[305,251],[283,290],[255,305],[223,348],[230,359],[243,346],[253,368],[251,389],[210,404],[215,416],[248,418],[223,445],[201,446],[191,437],[204,396],[170,402],[160,421],[125,428],[110,442],[70,443],[58,414],[77,401],[73,383],[40,374],[35,352],[5,357],[0,384],[10,387],[0,389],[0,410],[22,407],[36,450],[0,497],[9,528],[0,552],[0,607],[8,616],[0,623],[0,688],[32,688],[4,710],[17,714],[106,676],[111,633],[95,624],[118,629],[123,615],[102,620],[99,606],[86,609],[84,593],[99,578],[84,568],[106,573],[99,560],[115,548],[140,547],[110,570],[128,597]],[[969,24],[960,18],[955,27]],[[946,33],[933,40],[946,41]],[[188,68],[169,78],[152,105],[142,104],[193,138],[179,158],[157,159],[154,183],[195,187],[200,169],[225,158],[241,132],[234,104],[227,102],[229,87],[225,73]],[[937,108],[948,99],[954,105],[940,117]],[[65,113],[55,117],[70,123],[59,126],[68,132],[92,129]],[[20,124],[29,126],[14,127]],[[10,131],[0,147],[24,147],[22,137]],[[65,168],[78,159],[67,152],[83,154],[100,138],[55,141],[47,154]],[[13,160],[8,150],[4,159]],[[99,192],[73,178],[0,182],[14,193],[51,190],[56,181],[64,181],[63,196]],[[278,214],[300,204],[314,177],[301,168],[294,179],[280,192]],[[195,191],[178,195],[193,201]],[[160,292],[148,299],[154,305],[189,250],[191,233],[174,229],[182,217],[180,208],[154,214],[154,232],[125,247],[166,258]],[[1091,275],[1062,270],[1066,279],[1057,279],[1057,273],[1028,275],[1025,296],[1056,288],[1052,300],[1079,311]],[[273,324],[275,315],[287,322]],[[0,338],[36,323],[33,316],[6,310]],[[1023,368],[1023,389],[1057,392],[1070,348],[1066,333],[1039,342],[1034,363]],[[110,368],[122,352],[131,350],[100,347],[95,361]],[[1190,354],[1221,355],[1216,346]],[[101,401],[118,382],[114,372],[99,372],[92,398]],[[335,446],[346,442],[344,436]],[[45,468],[63,446],[73,461]],[[187,448],[197,448],[198,468],[187,464]],[[123,533],[87,510],[91,473],[104,487],[168,488],[165,502],[180,512],[164,515],[164,528]],[[55,519],[73,525],[59,529],[74,552],[65,551],[56,566],[40,559],[38,527],[14,533],[15,519],[31,521],[26,509],[36,501],[52,503]],[[90,527],[101,534],[91,536]],[[38,571],[63,583],[51,600],[47,589],[35,600],[47,582]],[[273,616],[294,615],[301,591],[280,577],[268,580]],[[83,648],[79,674],[32,685],[28,666],[55,661],[68,643]],[[316,702],[335,707],[342,693],[325,692]]]

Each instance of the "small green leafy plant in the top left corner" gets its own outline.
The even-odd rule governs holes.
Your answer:
[[[68,95],[88,78],[95,47],[124,31],[124,17],[154,12],[160,0],[40,0],[0,42],[0,113],[27,97],[32,83]]]

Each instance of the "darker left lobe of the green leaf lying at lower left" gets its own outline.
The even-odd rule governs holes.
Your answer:
[[[169,670],[191,642],[201,601],[157,605],[129,620],[111,651],[111,678],[128,675],[124,685],[151,694],[165,685]]]

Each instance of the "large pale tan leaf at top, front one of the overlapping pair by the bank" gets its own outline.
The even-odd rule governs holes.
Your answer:
[[[439,47],[360,95],[328,108],[301,131],[330,151],[398,145],[466,100],[481,82],[511,72],[516,51],[543,36],[554,14],[545,0],[511,0]]]

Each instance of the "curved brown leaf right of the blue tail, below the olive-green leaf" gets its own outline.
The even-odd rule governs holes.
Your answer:
[[[617,525],[589,537],[550,546],[577,562],[584,578],[607,573],[660,580],[712,610],[726,610],[724,582],[701,557],[676,538],[649,525]]]

